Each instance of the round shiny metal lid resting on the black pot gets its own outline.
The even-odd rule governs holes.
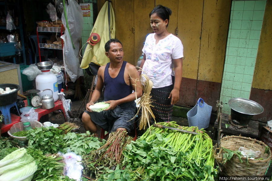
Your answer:
[[[228,101],[228,106],[231,109],[243,114],[256,115],[264,112],[264,108],[260,104],[241,97],[230,99]]]

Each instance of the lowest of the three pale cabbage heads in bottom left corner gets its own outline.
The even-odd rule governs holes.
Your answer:
[[[33,161],[29,164],[24,165],[23,167],[15,168],[13,170],[7,171],[6,173],[3,173],[0,176],[0,180],[21,181],[33,175],[36,172],[37,168],[37,165]]]

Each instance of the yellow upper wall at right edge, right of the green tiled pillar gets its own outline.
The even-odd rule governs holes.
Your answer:
[[[272,1],[267,0],[252,88],[272,90]]]

